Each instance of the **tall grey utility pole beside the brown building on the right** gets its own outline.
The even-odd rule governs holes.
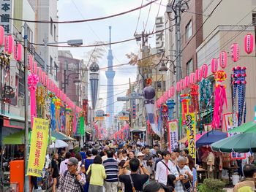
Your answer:
[[[176,83],[181,80],[181,1],[182,0],[176,0],[176,28],[175,28],[175,34],[176,34]],[[176,118],[179,117],[179,96],[178,92],[176,92]],[[179,139],[182,137],[182,129],[180,127],[180,133],[179,133]]]

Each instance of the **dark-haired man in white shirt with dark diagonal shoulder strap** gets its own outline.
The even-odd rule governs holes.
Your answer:
[[[170,152],[164,150],[162,152],[162,161],[157,164],[155,180],[159,183],[167,185],[168,174],[173,174],[173,164],[170,162]]]

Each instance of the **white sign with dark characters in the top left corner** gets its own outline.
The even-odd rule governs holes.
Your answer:
[[[12,0],[0,0],[1,22],[4,27],[4,34],[12,34]]]

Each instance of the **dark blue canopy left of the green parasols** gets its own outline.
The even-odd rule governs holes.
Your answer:
[[[227,133],[224,133],[222,131],[208,131],[208,133],[204,134],[202,137],[200,137],[200,139],[197,140],[196,147],[211,145],[212,143],[217,142],[221,139],[225,139],[226,137]]]

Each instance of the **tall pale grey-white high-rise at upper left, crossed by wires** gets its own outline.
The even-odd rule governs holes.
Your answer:
[[[58,21],[57,0],[29,0],[35,12],[35,20]],[[38,55],[45,61],[43,67],[48,76],[57,81],[58,47],[49,47],[58,42],[58,23],[35,23],[34,42],[45,46],[35,46]]]

